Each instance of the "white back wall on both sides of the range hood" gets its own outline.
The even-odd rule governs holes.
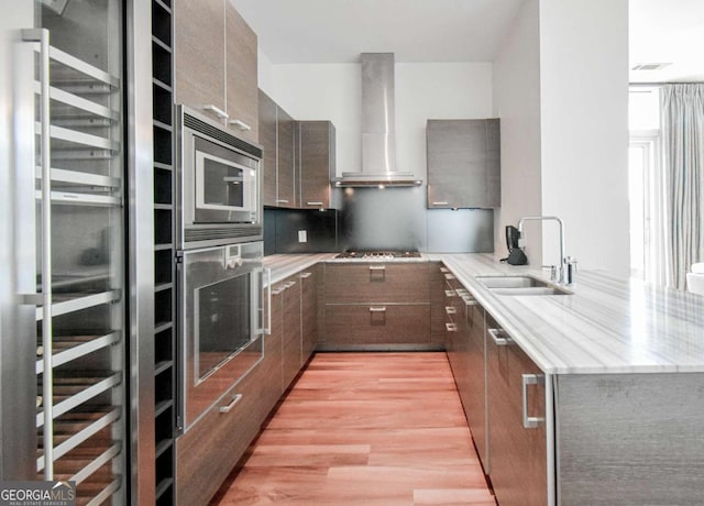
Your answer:
[[[298,120],[331,120],[337,172],[361,168],[359,64],[273,65],[270,95]],[[492,114],[492,65],[396,64],[396,157],[399,170],[426,179],[426,120]]]

